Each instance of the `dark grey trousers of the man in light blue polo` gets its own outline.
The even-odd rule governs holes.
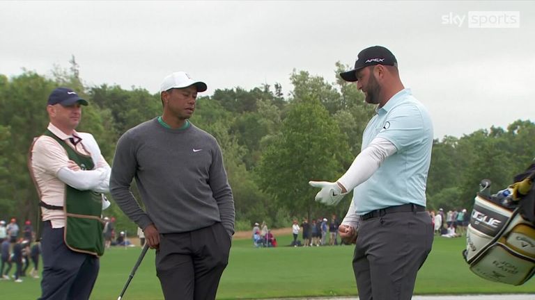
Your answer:
[[[390,213],[362,221],[353,271],[361,300],[410,300],[433,244],[428,213]]]

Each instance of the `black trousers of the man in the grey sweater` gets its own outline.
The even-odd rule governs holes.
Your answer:
[[[221,223],[187,233],[162,234],[156,274],[165,299],[215,299],[230,249],[231,237]]]

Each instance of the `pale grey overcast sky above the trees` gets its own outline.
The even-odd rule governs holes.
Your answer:
[[[0,1],[0,74],[49,75],[75,55],[88,85],[157,92],[183,70],[208,94],[288,92],[293,69],[334,82],[336,61],[380,44],[435,138],[460,137],[535,121],[534,33],[532,1]]]

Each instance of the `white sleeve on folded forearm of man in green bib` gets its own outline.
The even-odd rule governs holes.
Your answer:
[[[72,171],[68,167],[63,167],[57,175],[59,180],[77,190],[109,192],[109,173],[109,167],[108,169],[102,167],[86,171]],[[105,182],[106,178],[107,182]]]

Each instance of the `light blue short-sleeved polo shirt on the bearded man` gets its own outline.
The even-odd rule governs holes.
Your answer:
[[[361,151],[374,138],[389,140],[397,151],[353,190],[357,215],[406,203],[426,206],[426,181],[433,147],[431,117],[410,89],[401,90],[375,112],[362,135]]]

